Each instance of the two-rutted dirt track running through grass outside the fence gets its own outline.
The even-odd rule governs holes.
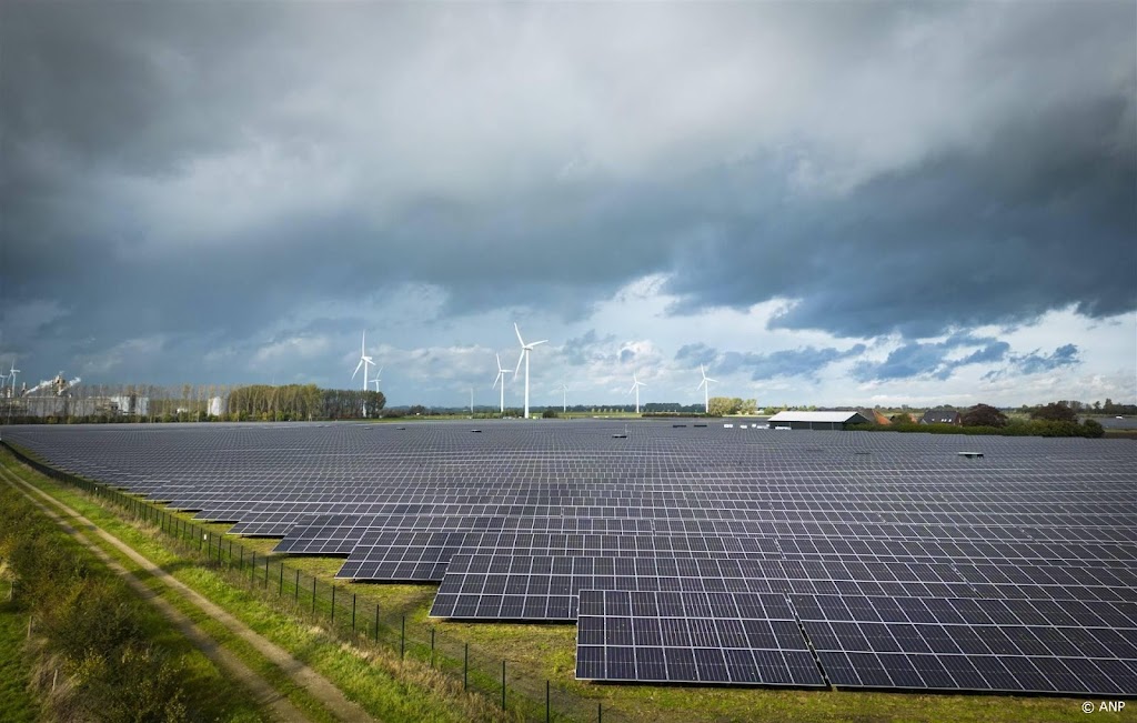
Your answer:
[[[177,629],[185,634],[185,637],[189,638],[207,657],[214,660],[217,665],[222,666],[224,670],[230,671],[241,684],[246,685],[254,692],[258,703],[268,706],[273,714],[280,720],[307,721],[308,717],[298,710],[287,698],[273,689],[273,687],[269,685],[268,682],[260,675],[244,665],[244,663],[242,663],[236,656],[218,646],[217,642],[205,631],[198,628],[193,621],[185,617],[185,615],[174,608],[169,602],[158,597],[156,592],[146,587],[130,571],[110,558],[110,556],[99,548],[99,546],[94,545],[89,538],[86,538],[83,532],[73,527],[59,514],[48,508],[41,501],[34,499],[33,493],[45,499],[48,504],[58,508],[84,530],[99,535],[113,545],[115,548],[130,557],[131,560],[138,564],[141,568],[153,575],[163,584],[173,589],[182,598],[201,609],[213,620],[221,623],[226,630],[248,642],[260,655],[265,656],[268,660],[279,666],[294,683],[304,687],[308,690],[308,692],[315,696],[335,718],[340,721],[373,720],[363,708],[348,700],[343,696],[343,692],[329,682],[323,675],[316,673],[306,664],[292,657],[292,655],[287,650],[260,637],[254,630],[244,625],[244,623],[240,622],[222,608],[198,595],[179,580],[175,580],[169,575],[169,573],[161,570],[142,555],[138,554],[133,548],[124,543],[118,538],[103,531],[78,512],[52,498],[50,495],[31,484],[27,484],[23,480],[19,480],[16,475],[9,473],[8,471],[0,472],[2,472],[2,477],[6,482],[18,489],[36,507],[43,510],[44,514],[55,520],[63,529],[72,534],[72,537],[85,547],[90,548],[115,572],[123,575],[126,582],[139,593],[139,596],[149,600],[155,607],[157,607],[163,615],[169,618],[169,621],[173,622],[174,625],[176,625]]]

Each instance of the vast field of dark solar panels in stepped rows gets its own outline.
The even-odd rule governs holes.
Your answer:
[[[5,434],[438,617],[576,621],[581,679],[1137,695],[1129,441],[478,429]]]

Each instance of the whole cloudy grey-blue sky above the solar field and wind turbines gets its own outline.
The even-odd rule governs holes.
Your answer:
[[[22,380],[1137,398],[1132,2],[0,13]]]

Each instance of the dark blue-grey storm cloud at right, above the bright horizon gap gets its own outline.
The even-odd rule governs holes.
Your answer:
[[[1121,93],[1130,93],[1129,98]],[[1131,88],[1006,124],[840,199],[715,222],[671,284],[688,304],[800,301],[774,321],[846,336],[1137,307]],[[771,218],[773,218],[771,221]]]

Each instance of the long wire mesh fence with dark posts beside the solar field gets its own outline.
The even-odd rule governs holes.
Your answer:
[[[20,462],[51,479],[74,485],[153,525],[176,542],[179,551],[208,566],[285,612],[319,625],[360,650],[383,649],[400,660],[430,666],[462,689],[499,706],[499,717],[515,721],[629,721],[619,708],[580,696],[534,673],[497,650],[471,643],[437,624],[409,618],[399,609],[352,591],[351,585],[321,580],[289,565],[288,557],[258,552],[239,539],[202,523],[171,514],[136,496],[57,469],[26,450],[0,440]]]

